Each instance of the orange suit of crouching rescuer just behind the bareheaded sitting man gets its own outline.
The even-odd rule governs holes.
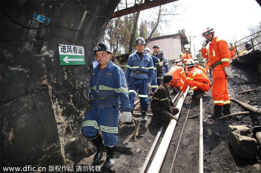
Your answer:
[[[169,73],[173,76],[170,86],[171,87],[180,87],[179,90],[181,90],[182,85],[183,85],[184,81],[186,80],[186,74],[185,74],[184,69],[181,66],[174,65],[169,70]]]

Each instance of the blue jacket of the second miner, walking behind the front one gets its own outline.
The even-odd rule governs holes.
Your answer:
[[[142,61],[140,61],[139,56],[137,55],[137,51],[129,56],[125,71],[127,82],[130,76],[137,79],[148,79],[149,83],[152,82],[155,76],[155,72],[152,57],[148,52],[145,52],[145,56],[142,58]]]

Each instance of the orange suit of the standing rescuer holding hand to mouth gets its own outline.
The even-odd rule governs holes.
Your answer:
[[[201,49],[202,55],[207,53],[207,49]],[[209,60],[211,64],[213,84],[212,98],[214,105],[231,104],[227,91],[227,75],[225,66],[229,67],[230,52],[227,42],[215,37],[209,44]]]

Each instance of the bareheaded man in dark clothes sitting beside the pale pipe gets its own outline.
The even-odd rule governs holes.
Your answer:
[[[168,86],[172,82],[172,75],[165,73],[163,76],[163,82],[155,90],[151,100],[151,111],[153,116],[151,118],[151,124],[156,125],[156,122],[170,121],[171,119],[177,120],[175,115],[179,112],[179,109],[174,106],[171,100],[171,94],[168,90]]]

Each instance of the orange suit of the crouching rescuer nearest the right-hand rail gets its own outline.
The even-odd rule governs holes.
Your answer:
[[[210,89],[211,82],[202,70],[194,66],[190,69],[186,80],[184,81],[182,92],[186,92],[188,86],[192,90],[198,90],[200,88],[203,92],[206,92]]]

